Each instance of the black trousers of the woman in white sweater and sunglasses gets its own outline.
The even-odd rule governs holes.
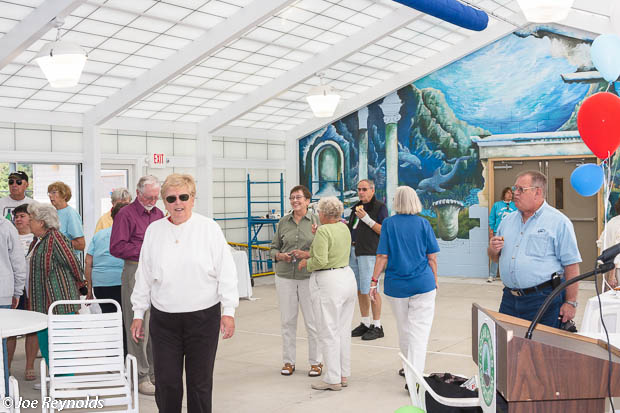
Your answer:
[[[220,318],[219,303],[190,313],[166,313],[151,306],[155,402],[161,413],[181,412],[183,363],[187,412],[211,413]]]

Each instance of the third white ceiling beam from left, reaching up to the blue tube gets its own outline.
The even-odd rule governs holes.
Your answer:
[[[348,39],[336,43],[325,51],[312,57],[308,62],[294,67],[265,86],[261,86],[239,102],[229,105],[227,108],[206,118],[200,123],[200,128],[205,128],[207,133],[217,130],[236,118],[250,112],[257,106],[275,98],[280,93],[314,76],[317,72],[335,65],[341,60],[353,55],[358,50],[373,44],[377,40],[395,32],[423,15],[423,13],[409,7],[403,7],[393,11],[383,19],[358,31]]]

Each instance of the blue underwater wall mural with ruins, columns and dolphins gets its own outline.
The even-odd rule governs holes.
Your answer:
[[[541,26],[506,36],[300,139],[301,183],[346,208],[370,178],[390,210],[409,185],[445,246],[474,229],[486,237],[484,214],[470,211],[487,207],[471,136],[576,130],[580,103],[606,87],[579,75],[592,70],[591,41]]]

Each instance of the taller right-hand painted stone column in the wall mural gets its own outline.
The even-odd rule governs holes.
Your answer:
[[[393,92],[379,105],[385,122],[385,192],[388,212],[392,213],[394,193],[398,187],[398,121],[400,120],[401,102],[398,94]]]

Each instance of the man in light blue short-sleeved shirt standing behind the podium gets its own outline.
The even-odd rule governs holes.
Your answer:
[[[517,176],[512,187],[517,212],[507,215],[489,242],[489,256],[499,260],[504,294],[499,312],[532,320],[553,291],[552,275],[570,280],[579,274],[581,255],[570,220],[545,202],[547,177],[538,171]],[[556,297],[542,324],[559,327],[575,317],[577,283]]]

